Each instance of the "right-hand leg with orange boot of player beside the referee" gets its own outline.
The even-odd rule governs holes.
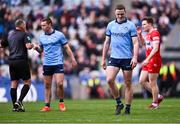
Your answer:
[[[66,110],[64,104],[64,85],[63,85],[64,73],[56,73],[54,76],[57,83],[57,93],[59,96],[59,109],[60,111],[63,112]]]

